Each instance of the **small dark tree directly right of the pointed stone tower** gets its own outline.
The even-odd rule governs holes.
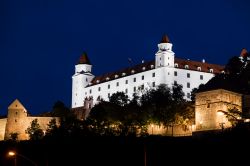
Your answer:
[[[25,132],[29,134],[30,140],[33,140],[33,141],[41,140],[44,136],[43,130],[40,128],[40,125],[37,119],[34,119],[30,123],[30,127],[28,127]]]

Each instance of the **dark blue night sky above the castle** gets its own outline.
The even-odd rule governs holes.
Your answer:
[[[71,103],[86,51],[99,75],[152,60],[163,34],[177,57],[224,65],[250,50],[248,0],[1,0],[0,114],[18,98],[32,113]]]

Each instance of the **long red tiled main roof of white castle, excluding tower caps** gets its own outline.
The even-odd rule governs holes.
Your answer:
[[[197,62],[197,61],[184,60],[184,59],[179,59],[179,58],[175,58],[175,64],[178,64],[178,67],[176,67],[176,68],[179,68],[179,69],[185,69],[185,65],[188,65],[188,69],[186,69],[186,70],[198,71],[198,67],[200,67],[201,72],[206,72],[206,73],[209,73],[210,72],[209,70],[213,69],[214,74],[221,73],[224,70],[224,66],[203,63],[203,62]],[[151,67],[152,65],[153,65],[153,67]],[[126,77],[126,76],[133,75],[133,74],[138,74],[138,73],[152,70],[152,69],[155,69],[155,60],[145,62],[142,64],[138,64],[138,65],[133,66],[133,67],[128,67],[128,68],[125,68],[125,69],[122,69],[119,71],[110,72],[107,74],[96,76],[91,81],[91,85],[89,85],[89,86],[100,84],[100,83],[111,81],[111,80],[115,80],[115,79],[119,79],[119,78]],[[134,73],[132,73],[132,71],[134,71]],[[123,75],[123,73],[125,73],[125,75]],[[118,76],[118,77],[116,77],[116,76]],[[109,79],[107,80],[107,78],[109,78]]]

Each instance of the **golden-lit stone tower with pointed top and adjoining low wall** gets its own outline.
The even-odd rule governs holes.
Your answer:
[[[28,140],[29,135],[25,133],[25,130],[30,127],[31,122],[35,119],[38,120],[40,128],[45,133],[47,125],[53,118],[59,125],[59,118],[57,117],[29,116],[25,107],[16,99],[8,107],[7,118],[0,119],[0,141],[10,139],[12,133],[18,134],[18,140]]]

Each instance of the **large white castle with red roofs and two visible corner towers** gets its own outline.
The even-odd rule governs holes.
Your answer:
[[[108,101],[109,96],[116,92],[124,92],[129,97],[134,93],[140,95],[144,90],[160,84],[170,88],[173,84],[181,84],[185,98],[190,99],[193,88],[224,72],[223,66],[204,60],[198,62],[176,58],[172,46],[168,37],[163,36],[154,60],[100,76],[92,74],[92,65],[87,55],[83,54],[72,76],[72,108],[86,107],[85,102],[90,100],[87,108],[92,108],[98,100]]]

